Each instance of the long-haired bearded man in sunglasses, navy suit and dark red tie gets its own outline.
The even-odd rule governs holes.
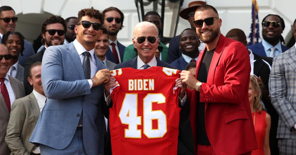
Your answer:
[[[107,29],[109,33],[109,48],[107,51],[107,60],[112,61],[113,63],[123,62],[123,53],[126,48],[120,44],[117,40],[117,33],[123,28],[123,13],[116,7],[109,7],[104,9],[104,28]]]

